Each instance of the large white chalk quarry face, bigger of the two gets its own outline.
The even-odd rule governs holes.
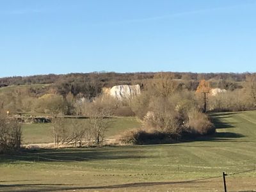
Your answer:
[[[136,95],[140,95],[140,85],[121,84],[112,88],[104,88],[103,92],[118,100],[131,99]]]

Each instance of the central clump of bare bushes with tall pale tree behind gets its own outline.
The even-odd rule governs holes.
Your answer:
[[[124,143],[170,143],[184,136],[209,134],[215,131],[202,104],[172,76],[159,73],[145,91],[131,102],[134,113],[143,121],[143,128],[128,131]]]

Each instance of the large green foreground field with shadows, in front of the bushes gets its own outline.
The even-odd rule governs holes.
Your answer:
[[[0,191],[223,191],[222,172],[228,191],[256,191],[256,111],[211,117],[196,141],[2,155]]]

